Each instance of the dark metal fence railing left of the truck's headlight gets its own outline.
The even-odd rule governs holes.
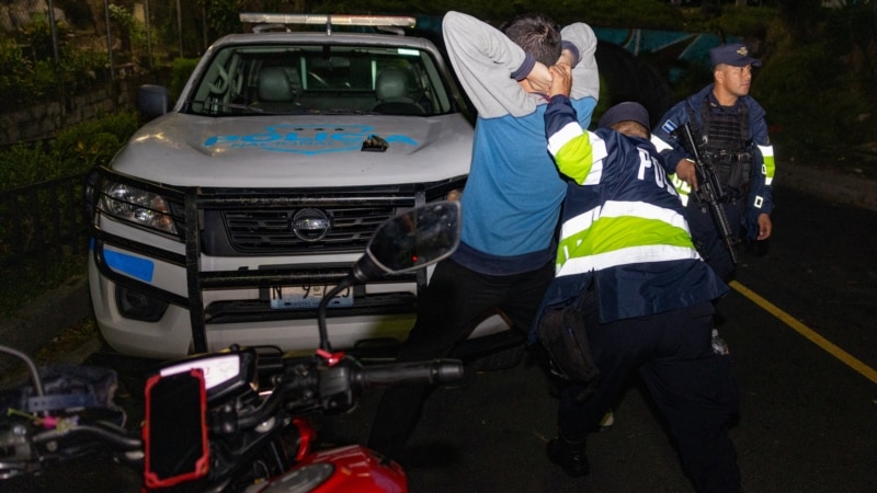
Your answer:
[[[0,271],[38,268],[82,254],[84,174],[0,192]]]

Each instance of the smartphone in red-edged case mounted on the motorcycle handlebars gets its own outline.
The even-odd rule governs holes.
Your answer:
[[[207,473],[208,446],[204,372],[193,368],[150,377],[146,383],[144,479],[170,486]]]

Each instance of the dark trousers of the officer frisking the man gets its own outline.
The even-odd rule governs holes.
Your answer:
[[[576,388],[561,393],[560,435],[585,438],[638,371],[676,440],[683,467],[697,491],[740,490],[737,452],[728,435],[739,412],[739,390],[730,356],[713,353],[713,305],[650,317],[599,323],[595,295],[585,297],[585,328],[600,385],[580,403]]]

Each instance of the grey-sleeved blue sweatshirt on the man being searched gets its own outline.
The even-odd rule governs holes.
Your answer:
[[[517,83],[532,56],[499,30],[459,12],[443,20],[451,64],[478,111],[472,159],[463,194],[459,264],[490,275],[533,271],[556,254],[556,227],[567,184],[545,148],[547,98]],[[588,128],[600,93],[590,26],[562,28],[565,48],[578,55],[572,105]]]

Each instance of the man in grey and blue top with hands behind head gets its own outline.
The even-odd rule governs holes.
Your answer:
[[[555,229],[567,190],[545,151],[547,67],[559,60],[572,67],[571,104],[584,127],[600,92],[596,36],[586,24],[560,30],[533,13],[498,30],[452,11],[443,31],[451,64],[478,111],[463,236],[454,255],[436,264],[397,362],[448,356],[496,310],[522,335],[528,330],[554,277]],[[368,446],[401,460],[430,390],[386,389]]]

